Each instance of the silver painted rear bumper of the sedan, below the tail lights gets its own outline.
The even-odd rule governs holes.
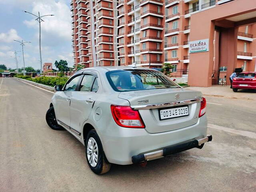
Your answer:
[[[108,130],[99,132],[106,158],[110,163],[127,165],[133,163],[132,156],[205,138],[207,119],[204,115],[192,126],[154,134],[143,128],[123,128],[111,122]]]

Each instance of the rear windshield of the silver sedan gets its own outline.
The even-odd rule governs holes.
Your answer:
[[[156,70],[114,70],[106,73],[115,91],[134,91],[161,88],[179,88],[167,76]]]

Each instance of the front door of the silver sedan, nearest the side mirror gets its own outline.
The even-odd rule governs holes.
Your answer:
[[[81,74],[72,77],[62,91],[59,91],[56,96],[56,116],[58,122],[68,128],[70,126],[70,101],[72,96],[78,90],[78,84],[80,83]]]

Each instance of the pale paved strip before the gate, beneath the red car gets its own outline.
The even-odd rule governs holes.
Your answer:
[[[233,92],[230,86],[214,85],[211,87],[188,87],[187,89],[201,91],[205,96],[256,100],[254,90],[238,90],[238,92]]]

